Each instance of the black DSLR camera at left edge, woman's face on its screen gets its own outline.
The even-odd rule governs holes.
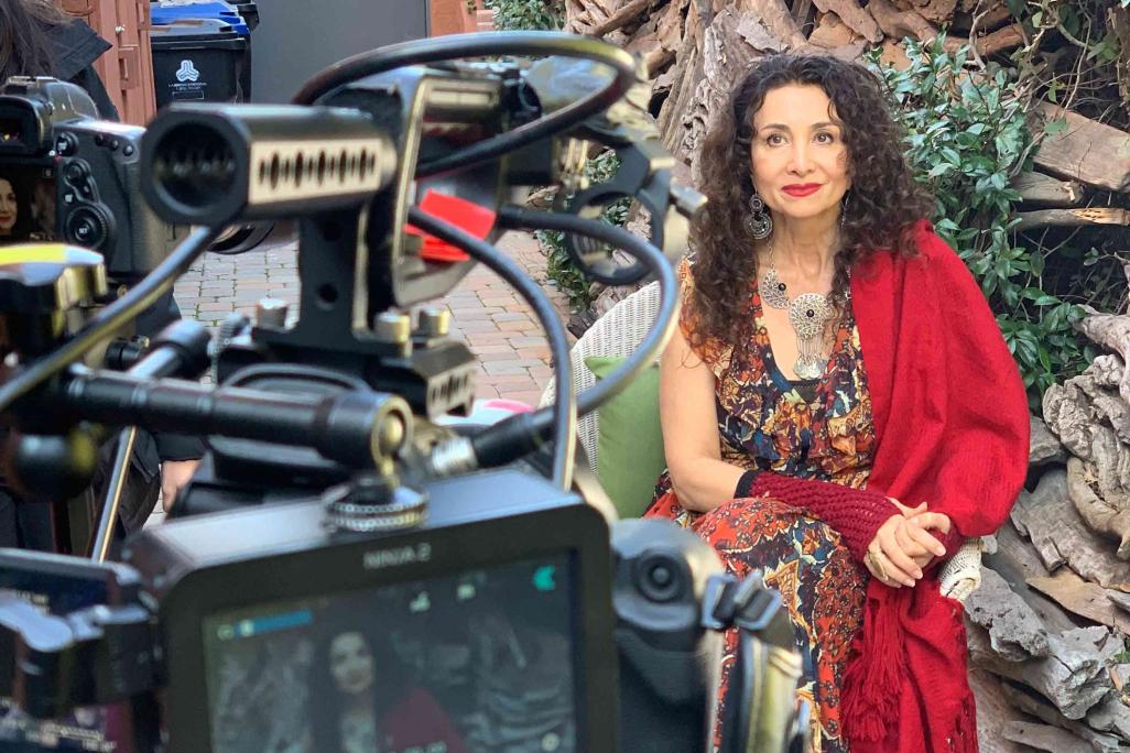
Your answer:
[[[59,240],[99,252],[106,273],[137,280],[186,234],[141,195],[145,129],[98,120],[80,87],[14,77],[0,88],[0,180],[15,211],[0,213],[9,240]],[[3,227],[6,218],[12,217]]]

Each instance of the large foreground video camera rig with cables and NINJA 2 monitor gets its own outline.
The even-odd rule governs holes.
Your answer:
[[[316,647],[337,631],[367,641],[373,688],[386,666],[415,667],[468,750],[698,751],[715,732],[721,631],[737,625],[722,747],[801,750],[799,657],[779,596],[723,575],[705,543],[670,524],[616,523],[609,546],[599,485],[583,470],[574,479],[577,413],[623,389],[672,331],[677,283],[661,248],[681,252],[703,204],[671,182],[670,156],[632,104],[638,82],[624,51],[559,34],[379,49],[313,79],[294,105],[160,113],[141,142],[142,192],[163,221],[197,229],[124,296],[92,252],[0,249],[14,482],[49,500],[82,489],[104,426],[209,444],[177,519],[128,542],[124,564],[0,551],[11,589],[0,598],[0,694],[36,718],[125,701],[122,750],[290,750],[269,742],[288,737],[321,750],[319,724],[338,707],[290,675],[313,677]],[[563,169],[582,142],[617,151],[609,184]],[[563,211],[508,203],[515,189],[555,183],[573,193]],[[651,243],[591,219],[624,196],[650,213]],[[223,228],[279,218],[297,218],[295,323],[264,303],[215,344],[181,322],[144,353],[106,348]],[[490,245],[513,228],[565,233],[573,260],[606,283],[660,281],[653,331],[575,399],[548,300]],[[616,265],[608,247],[635,263]],[[475,263],[530,303],[558,367],[555,405],[486,427],[446,419],[470,410],[475,358],[444,313],[403,313]],[[118,370],[98,368],[106,352]],[[216,386],[194,380],[209,367]],[[104,515],[128,452],[123,441]],[[464,658],[428,684],[451,668],[436,647]],[[374,656],[394,657],[375,663],[375,680]],[[284,665],[290,692],[260,729],[264,709],[241,688],[270,684]],[[415,717],[438,728],[418,702],[405,708],[380,706],[373,734],[406,739],[389,742],[381,712],[395,734],[411,736]]]

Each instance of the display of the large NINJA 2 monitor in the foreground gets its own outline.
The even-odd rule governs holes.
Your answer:
[[[576,751],[574,559],[210,615],[212,751]]]

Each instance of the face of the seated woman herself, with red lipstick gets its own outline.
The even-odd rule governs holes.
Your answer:
[[[831,104],[820,87],[790,84],[768,91],[754,115],[754,185],[774,213],[838,217],[851,177],[843,129]]]

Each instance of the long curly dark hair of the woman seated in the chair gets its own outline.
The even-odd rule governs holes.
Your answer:
[[[788,85],[816,85],[832,100],[832,120],[841,124],[847,149],[851,190],[844,200],[832,303],[846,301],[847,271],[880,248],[918,253],[913,226],[935,208],[903,156],[903,132],[892,117],[881,82],[867,69],[829,55],[774,54],[758,60],[738,82],[730,106],[706,134],[698,166],[699,190],[709,202],[695,226],[694,294],[688,301],[695,327],[690,344],[738,342],[748,319],[748,299],[734,295],[734,280],[757,274],[755,239],[746,227],[754,192],[750,146],[754,115],[765,95]]]

